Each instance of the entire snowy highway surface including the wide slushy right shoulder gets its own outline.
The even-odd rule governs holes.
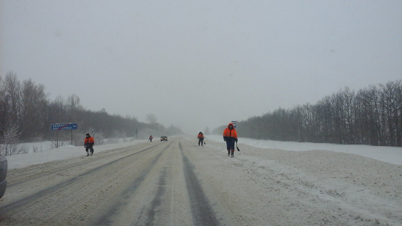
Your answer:
[[[170,138],[8,172],[0,225],[401,225],[401,166]],[[240,145],[240,143],[239,143]]]

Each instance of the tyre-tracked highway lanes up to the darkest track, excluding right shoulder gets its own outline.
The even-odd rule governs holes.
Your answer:
[[[178,139],[8,177],[1,225],[218,225]]]

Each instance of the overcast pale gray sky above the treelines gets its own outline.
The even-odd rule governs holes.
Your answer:
[[[401,0],[1,0],[0,26],[1,76],[188,133],[402,79]]]

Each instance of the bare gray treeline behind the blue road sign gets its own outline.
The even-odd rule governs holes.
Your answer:
[[[59,96],[50,101],[42,84],[35,84],[27,79],[20,82],[14,72],[8,72],[4,78],[0,76],[0,144],[5,139],[13,142],[33,142],[54,140],[55,131],[51,131],[54,123],[78,123],[80,143],[89,131],[102,134],[103,138],[136,137],[143,139],[155,132],[166,136],[183,134],[179,127],[139,122],[135,117],[109,115],[105,109],[100,111],[86,110],[80,105],[80,98],[75,94],[67,99]],[[137,131],[137,133],[136,133]],[[143,131],[143,133],[141,133]],[[63,135],[60,131],[60,134]],[[76,133],[76,131],[74,131]],[[70,134],[67,132],[66,137]],[[68,139],[67,139],[68,140]]]

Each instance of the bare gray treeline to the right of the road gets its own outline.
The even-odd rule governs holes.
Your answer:
[[[345,87],[316,104],[279,108],[236,124],[245,138],[401,146],[402,80],[357,92]],[[213,132],[220,134],[226,126]]]

